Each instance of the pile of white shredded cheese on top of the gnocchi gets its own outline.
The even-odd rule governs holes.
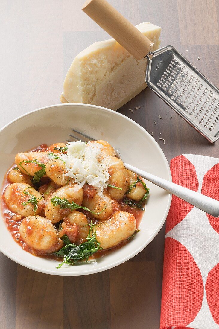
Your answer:
[[[60,155],[65,161],[65,175],[81,187],[90,184],[103,192],[110,177],[108,173],[110,158],[101,160],[100,157],[103,145],[77,141],[68,142],[67,147],[67,154]]]

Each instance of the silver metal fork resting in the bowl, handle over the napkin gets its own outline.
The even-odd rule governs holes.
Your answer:
[[[81,140],[83,142],[87,142],[86,139],[88,139],[89,141],[91,140],[96,140],[93,139],[85,134],[82,134],[81,132],[71,129],[74,133],[76,133],[78,135],[78,137],[74,136],[74,135],[70,135],[70,137],[76,139],[76,140]],[[69,140],[68,140],[69,141]],[[115,153],[116,153],[116,157],[121,159],[121,155],[119,153],[119,151],[114,148]],[[140,177],[148,180],[149,182],[161,187],[162,189],[170,192],[171,194],[174,194],[176,196],[178,196],[178,198],[190,203],[191,205],[195,206],[196,208],[204,211],[205,213],[212,215],[214,217],[219,217],[219,201],[214,200],[212,198],[209,198],[206,195],[203,195],[201,193],[186,189],[185,187],[182,187],[180,185],[177,185],[175,183],[169,182],[163,178],[154,176],[144,170],[141,170],[139,168],[133,167],[130,164],[126,164],[124,163],[124,166],[126,169],[136,173],[137,175],[139,175]]]

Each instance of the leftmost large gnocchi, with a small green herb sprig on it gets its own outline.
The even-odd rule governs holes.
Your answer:
[[[8,185],[5,189],[4,197],[8,208],[13,213],[24,217],[39,214],[44,206],[42,195],[25,183]],[[33,202],[29,202],[33,197],[35,197]],[[36,211],[34,210],[34,201],[37,203]]]

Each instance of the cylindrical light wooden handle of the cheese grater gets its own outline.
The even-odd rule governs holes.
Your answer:
[[[82,10],[137,60],[150,52],[153,43],[106,0],[88,0]]]

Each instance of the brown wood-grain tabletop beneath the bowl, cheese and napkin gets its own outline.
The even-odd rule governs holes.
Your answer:
[[[74,56],[108,38],[80,10],[83,2],[1,0],[1,126],[31,110],[60,103],[62,83]],[[219,87],[218,0],[110,3],[135,25],[150,21],[161,26],[161,45],[175,46]],[[141,109],[132,114],[129,109],[137,106]],[[218,156],[219,141],[210,145],[149,88],[119,112],[152,131],[168,161],[182,153]],[[0,327],[159,328],[164,232],[163,227],[130,261],[84,277],[41,274],[1,254]]]

